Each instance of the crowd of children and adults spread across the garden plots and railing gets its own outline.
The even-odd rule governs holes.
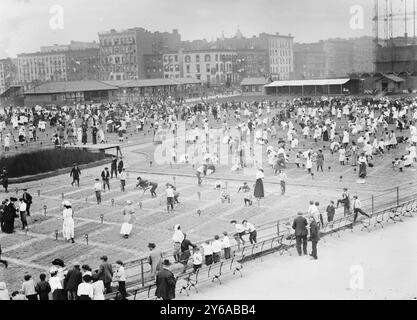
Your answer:
[[[129,127],[136,132],[143,131],[148,125],[157,136],[161,130],[172,132],[175,136],[179,124],[186,126],[186,141],[194,148],[199,148],[201,158],[194,157],[188,150],[179,154],[176,137],[172,147],[171,160],[173,163],[191,164],[196,169],[197,185],[202,185],[203,178],[216,172],[220,165],[219,155],[210,150],[214,136],[211,129],[220,127],[223,140],[227,145],[233,161],[231,171],[239,171],[247,166],[254,166],[256,178],[253,187],[247,182],[239,187],[238,193],[243,194],[243,204],[253,205],[253,200],[260,201],[265,196],[263,180],[265,178],[264,163],[258,162],[255,156],[255,145],[263,146],[263,156],[267,165],[273,170],[280,182],[281,194],[286,192],[286,169],[294,164],[295,168],[313,174],[313,163],[316,171],[323,172],[326,168],[326,157],[337,154],[340,166],[351,165],[358,168],[358,178],[367,177],[367,168],[376,165],[377,159],[391,157],[393,169],[404,172],[414,166],[417,161],[417,100],[412,98],[296,98],[287,101],[242,101],[242,102],[201,102],[186,103],[184,100],[153,97],[138,104],[86,104],[64,107],[34,107],[34,108],[5,108],[0,115],[0,133],[2,135],[3,150],[10,149],[10,139],[18,133],[19,143],[32,142],[38,139],[37,132],[53,131],[53,142],[57,146],[72,144],[86,144],[106,142],[106,135],[115,134],[121,140]],[[91,131],[91,140],[88,138]],[[252,143],[253,142],[253,143]],[[399,146],[404,148],[400,150]],[[328,167],[330,171],[330,167]],[[74,164],[70,177],[71,185],[79,187],[81,170]],[[110,190],[110,179],[120,180],[120,188],[125,191],[128,173],[123,159],[114,157],[110,170],[105,167],[100,176],[95,178],[93,190],[97,204],[102,203],[102,193]],[[0,180],[5,191],[8,191],[8,174],[3,168]],[[173,213],[175,205],[179,204],[180,193],[177,186],[165,184],[167,212]],[[151,196],[157,197],[158,183],[137,178],[136,188]],[[230,202],[227,185],[217,180],[215,189],[220,190],[220,200]],[[20,218],[22,230],[27,228],[27,216],[30,216],[32,197],[23,190],[19,197],[10,197],[0,205],[1,230],[13,233],[14,220]],[[63,203],[63,236],[67,241],[74,239],[74,212],[71,202]],[[344,190],[341,199],[331,201],[326,207],[327,221],[331,222],[335,216],[335,209],[342,204],[344,215],[350,215],[353,209],[353,222],[359,214],[369,216],[362,209],[358,196],[350,197],[348,190]],[[312,201],[308,208],[307,218],[302,213],[294,220],[292,228],[296,237],[297,252],[307,254],[307,236],[312,241],[311,256],[317,259],[317,243],[320,239],[320,228],[324,225],[324,212],[319,209],[319,203]],[[133,202],[128,200],[122,208],[123,223],[120,234],[129,238],[135,222]],[[307,220],[308,219],[308,220]],[[257,242],[257,230],[253,224],[243,220],[231,221],[235,228],[232,238],[238,247]],[[310,231],[308,231],[308,227]],[[352,224],[353,227],[353,224]],[[249,239],[244,240],[243,236]],[[203,264],[216,263],[223,257],[231,257],[231,244],[227,232],[215,235],[213,239],[200,246],[192,243],[181,227],[174,228],[173,259],[175,263],[183,265],[186,270],[191,261],[192,268],[198,270]],[[164,258],[156,245],[149,244],[149,264],[151,273],[157,283],[172,284],[169,274],[169,259]],[[107,257],[102,257],[103,263],[97,272],[92,273],[88,266],[73,264],[68,272],[63,272],[63,263],[54,265],[49,280],[41,274],[35,283],[30,275],[26,275],[22,290],[14,292],[14,299],[25,298],[45,299],[51,293],[53,299],[104,299],[104,293],[111,291],[111,283],[118,282],[118,290],[123,298],[126,297],[125,274],[123,263],[118,261],[117,271],[113,274],[112,266]],[[105,258],[105,259],[104,259]],[[3,260],[0,260],[3,262]],[[7,261],[4,263],[7,266]],[[85,267],[85,268],[84,268]],[[119,271],[120,270],[120,271]],[[169,271],[169,272],[168,272]],[[159,274],[161,272],[161,274]],[[159,275],[159,276],[158,276]],[[74,280],[76,279],[76,280]],[[163,279],[163,280],[161,280]],[[102,283],[101,283],[102,282]],[[0,294],[4,285],[0,283]],[[48,291],[49,290],[49,291]],[[157,291],[161,298],[172,298],[172,290]],[[168,293],[167,293],[168,292]],[[174,292],[175,296],[175,292]]]

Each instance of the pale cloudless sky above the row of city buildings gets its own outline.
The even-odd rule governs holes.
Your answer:
[[[352,6],[363,11],[353,28]],[[291,33],[295,42],[358,37],[372,35],[372,10],[371,0],[0,0],[0,58],[131,27],[178,29],[182,40],[229,37],[238,26],[246,37]]]

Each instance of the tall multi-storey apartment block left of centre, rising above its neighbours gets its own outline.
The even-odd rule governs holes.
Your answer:
[[[152,33],[143,28],[113,29],[99,33],[99,42],[100,79],[134,80],[145,79],[150,74],[146,70],[145,55],[178,50],[181,36],[176,29],[172,33]]]

